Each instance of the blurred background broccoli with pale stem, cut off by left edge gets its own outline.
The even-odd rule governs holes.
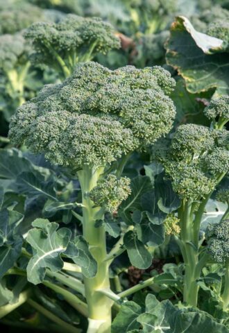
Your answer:
[[[8,100],[5,114],[8,121],[15,108],[24,103],[24,85],[30,67],[28,51],[21,34],[0,36],[0,74],[5,81],[3,96]]]

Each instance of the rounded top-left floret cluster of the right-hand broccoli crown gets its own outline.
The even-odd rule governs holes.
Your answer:
[[[178,157],[194,157],[214,147],[214,137],[210,129],[187,123],[177,128],[171,142],[171,152]]]

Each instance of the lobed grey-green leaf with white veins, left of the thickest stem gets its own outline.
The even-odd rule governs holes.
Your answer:
[[[58,223],[36,219],[33,229],[28,231],[27,241],[33,248],[33,257],[27,266],[28,281],[38,284],[44,280],[46,268],[53,272],[60,271],[63,261],[60,254],[65,252],[71,237],[67,228],[58,229]]]

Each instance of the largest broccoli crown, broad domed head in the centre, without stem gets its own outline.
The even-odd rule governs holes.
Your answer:
[[[104,165],[169,132],[174,85],[161,67],[111,71],[85,62],[17,109],[10,139],[56,164]]]

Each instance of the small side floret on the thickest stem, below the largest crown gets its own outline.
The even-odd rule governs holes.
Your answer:
[[[130,179],[126,177],[117,178],[109,175],[100,180],[98,185],[90,191],[90,198],[96,206],[103,207],[106,212],[117,211],[123,200],[131,193]]]

